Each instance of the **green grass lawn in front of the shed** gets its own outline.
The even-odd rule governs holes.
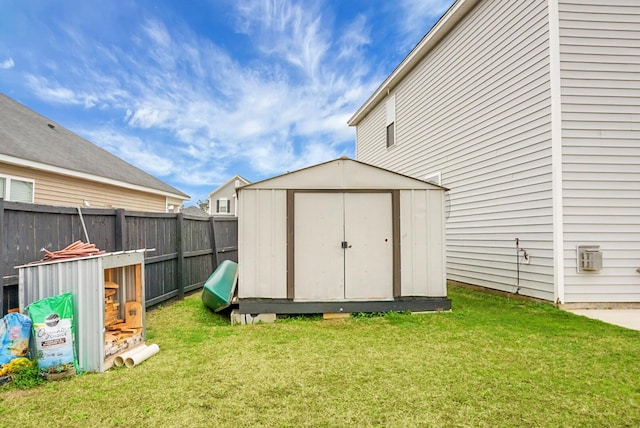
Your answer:
[[[636,427],[640,332],[450,287],[449,313],[235,326],[147,313],[133,368],[0,388],[0,426]]]

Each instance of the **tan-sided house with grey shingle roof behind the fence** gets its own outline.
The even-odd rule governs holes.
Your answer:
[[[0,198],[179,211],[189,196],[0,94]]]

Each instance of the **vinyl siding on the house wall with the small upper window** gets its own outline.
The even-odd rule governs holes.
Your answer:
[[[449,188],[447,277],[554,299],[549,24],[544,0],[481,1],[357,124],[359,160]],[[532,254],[517,277],[515,239]]]

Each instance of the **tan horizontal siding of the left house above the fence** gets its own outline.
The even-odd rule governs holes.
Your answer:
[[[8,164],[0,164],[0,174],[33,179],[36,204],[84,207],[84,201],[87,201],[92,208],[166,212],[167,198],[161,195]]]

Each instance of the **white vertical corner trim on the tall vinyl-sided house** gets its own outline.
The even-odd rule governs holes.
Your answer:
[[[564,215],[562,200],[562,93],[560,82],[560,12],[558,0],[548,0],[549,86],[551,98],[551,187],[553,209],[553,278],[556,304],[565,302]]]

